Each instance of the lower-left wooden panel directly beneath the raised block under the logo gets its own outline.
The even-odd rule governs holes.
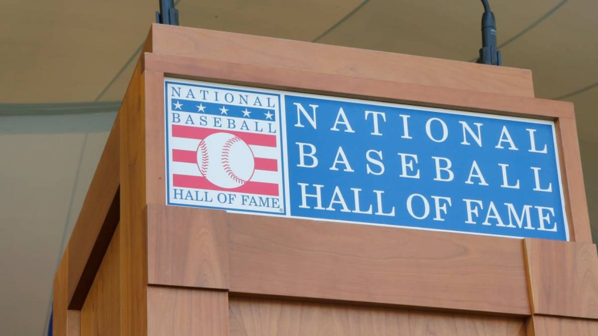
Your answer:
[[[228,293],[149,286],[147,320],[148,336],[228,336]]]

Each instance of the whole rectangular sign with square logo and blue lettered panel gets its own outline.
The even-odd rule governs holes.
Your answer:
[[[554,123],[166,78],[167,204],[568,240]]]

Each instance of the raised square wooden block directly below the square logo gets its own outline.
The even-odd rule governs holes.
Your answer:
[[[228,289],[226,213],[148,205],[148,282]]]

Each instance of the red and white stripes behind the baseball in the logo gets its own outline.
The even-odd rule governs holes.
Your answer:
[[[172,125],[170,146],[170,173],[173,187],[205,190],[234,191],[239,193],[279,195],[279,149],[276,135],[249,133],[231,130]],[[206,179],[197,166],[197,147],[210,134],[226,132],[245,141],[254,153],[255,172],[251,180],[241,187],[225,189]]]

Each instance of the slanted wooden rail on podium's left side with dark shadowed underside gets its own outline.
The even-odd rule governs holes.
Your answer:
[[[83,306],[118,224],[119,130],[117,117],[69,239],[68,297],[72,309]]]

